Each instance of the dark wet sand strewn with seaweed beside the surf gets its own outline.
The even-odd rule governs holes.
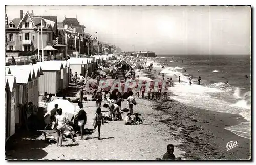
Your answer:
[[[147,73],[155,79],[159,76]],[[154,109],[165,112],[165,119],[170,133],[175,139],[181,139],[177,147],[185,151],[186,159],[222,159],[248,160],[250,158],[251,139],[240,137],[225,128],[248,122],[239,114],[209,111],[185,105],[172,99],[169,101],[154,101]],[[227,151],[226,145],[237,141],[238,147]]]

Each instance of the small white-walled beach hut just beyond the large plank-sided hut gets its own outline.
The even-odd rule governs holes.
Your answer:
[[[77,72],[78,75],[82,74],[85,76],[84,73],[84,64],[83,64],[83,58],[70,58],[70,69],[73,75],[75,75],[75,72]]]

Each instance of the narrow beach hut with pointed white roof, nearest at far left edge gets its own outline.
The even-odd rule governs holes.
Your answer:
[[[16,112],[16,78],[14,75],[5,75],[5,121],[7,141],[15,133],[15,112]]]

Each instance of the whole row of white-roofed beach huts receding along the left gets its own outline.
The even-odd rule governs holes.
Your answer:
[[[84,76],[92,73],[103,60],[113,55],[70,58],[67,61],[45,61],[5,67],[6,140],[22,126],[22,108],[32,102],[38,107],[39,95],[51,95],[69,87],[70,72]],[[28,116],[29,117],[29,116]]]

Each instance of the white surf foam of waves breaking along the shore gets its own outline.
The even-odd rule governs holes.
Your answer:
[[[156,65],[160,66],[160,64]],[[154,67],[154,65],[153,65]],[[159,67],[158,67],[159,68]],[[181,83],[175,82],[174,87],[168,87],[175,95],[172,99],[178,100],[186,105],[231,114],[239,114],[244,117],[244,119],[251,120],[251,104],[250,104],[250,92],[241,95],[239,87],[229,86],[223,82],[214,83],[210,85],[197,85],[197,79],[193,80],[193,84],[189,85],[188,73],[179,72],[182,67],[165,67],[162,69],[161,73],[166,76],[170,76],[173,80],[178,80],[181,76]],[[212,72],[219,72],[214,70]],[[174,77],[174,74],[177,77]],[[218,97],[217,97],[218,96]],[[230,102],[231,100],[232,102]],[[226,128],[232,131],[238,136],[244,138],[250,138],[250,127],[249,124],[240,124]]]

